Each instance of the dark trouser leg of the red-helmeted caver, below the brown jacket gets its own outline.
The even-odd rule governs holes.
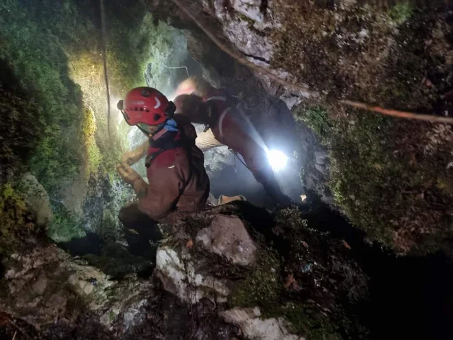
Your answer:
[[[139,210],[137,202],[125,205],[119,210],[119,220],[124,226],[124,238],[132,255],[141,256],[150,249],[150,241],[161,240],[161,231],[156,220]]]

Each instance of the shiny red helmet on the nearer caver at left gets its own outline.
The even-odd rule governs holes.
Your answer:
[[[152,87],[130,90],[124,102],[118,105],[122,106],[124,119],[129,125],[159,125],[172,118],[175,111],[174,104]]]

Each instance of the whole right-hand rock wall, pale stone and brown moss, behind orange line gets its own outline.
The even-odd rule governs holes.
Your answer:
[[[265,89],[292,110],[302,182],[313,199],[321,197],[371,240],[395,251],[450,252],[451,124],[384,117],[338,100],[452,115],[451,3],[181,3],[239,58],[310,90],[292,89],[255,71],[262,87],[244,93],[253,98],[257,88]],[[222,54],[175,8],[167,4],[167,15],[190,27],[200,59],[209,58],[205,51]],[[228,70],[218,69],[228,78]],[[247,71],[235,78],[252,81],[242,74]],[[270,111],[256,112],[266,117]]]

